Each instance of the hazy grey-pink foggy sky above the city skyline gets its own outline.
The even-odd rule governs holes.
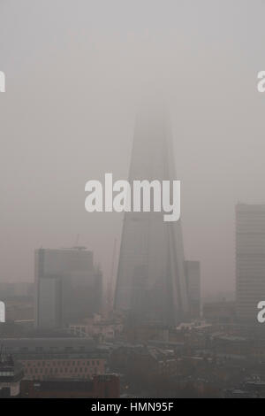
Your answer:
[[[110,275],[123,214],[85,211],[85,183],[126,179],[143,91],[166,97],[187,259],[203,293],[233,290],[234,206],[265,203],[265,4],[0,0],[0,281],[34,249],[76,243]]]

